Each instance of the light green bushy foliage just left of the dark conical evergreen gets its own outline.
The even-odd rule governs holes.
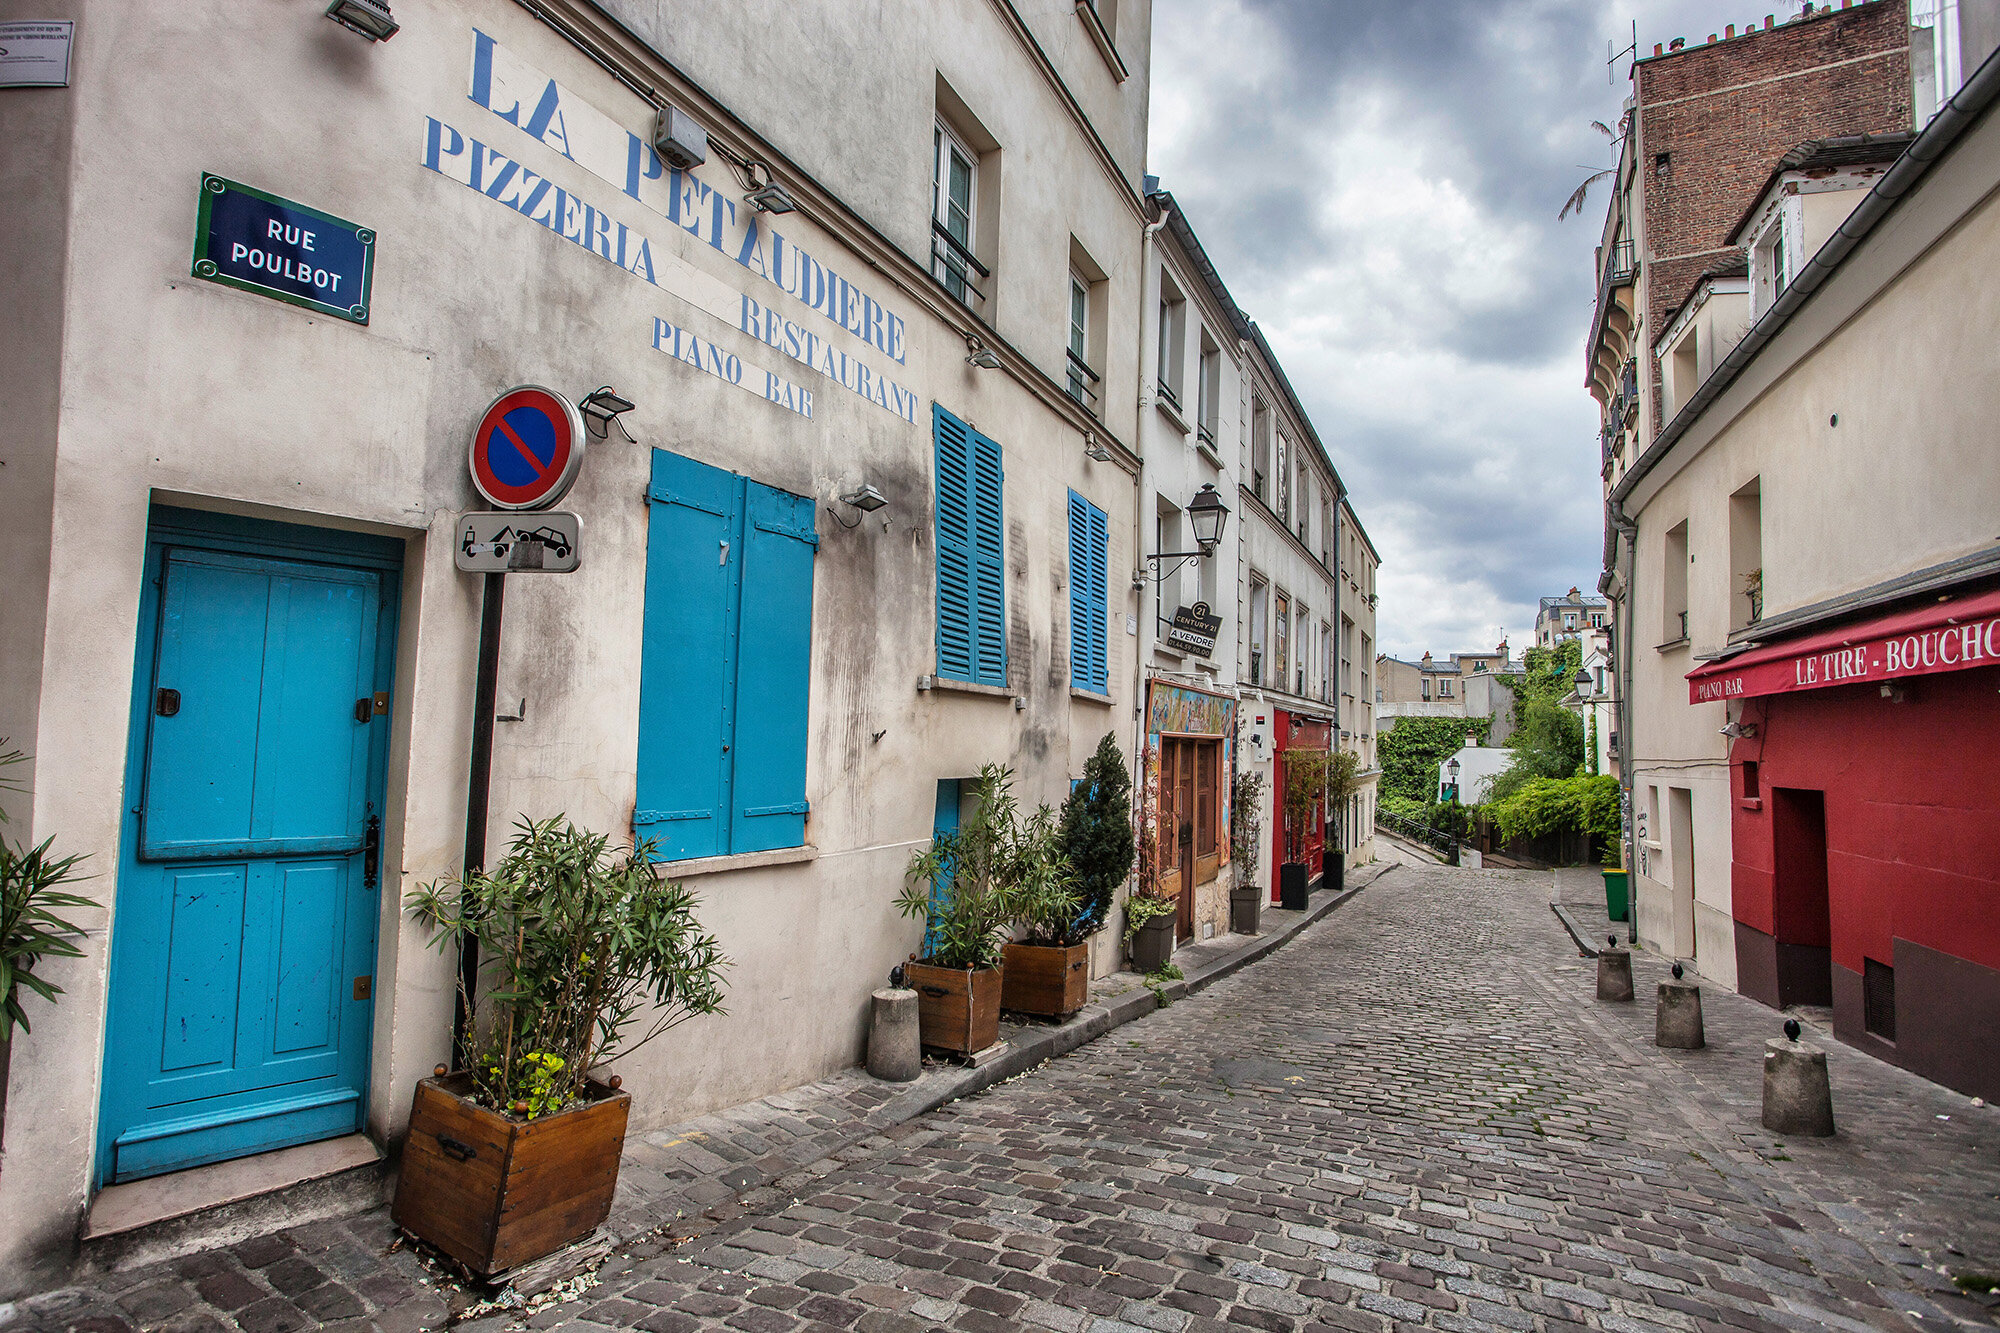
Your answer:
[[[932,967],[996,967],[1010,925],[1022,921],[1030,937],[1054,937],[1080,907],[1054,811],[1044,805],[1022,821],[1014,775],[998,765],[980,769],[972,815],[918,849],[904,875],[896,907],[924,923]]]

